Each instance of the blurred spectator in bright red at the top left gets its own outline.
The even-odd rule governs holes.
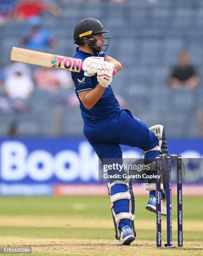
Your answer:
[[[61,9],[53,3],[42,3],[40,0],[23,0],[15,10],[15,17],[29,19],[41,15],[44,11],[52,13],[55,17],[62,14]]]

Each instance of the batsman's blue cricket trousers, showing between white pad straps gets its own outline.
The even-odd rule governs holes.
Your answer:
[[[85,120],[83,131],[101,160],[121,159],[122,161],[120,144],[138,147],[144,151],[158,145],[158,138],[154,133],[145,123],[133,117],[129,110],[119,110],[104,119]],[[145,154],[145,158],[155,158],[156,154],[156,151],[150,151]],[[111,188],[111,195],[125,191],[127,191],[125,184],[115,184]],[[114,202],[113,209],[116,214],[129,212],[128,199]],[[118,227],[124,225],[131,226],[130,220],[122,219]]]

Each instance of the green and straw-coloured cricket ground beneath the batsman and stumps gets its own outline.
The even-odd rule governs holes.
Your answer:
[[[202,197],[183,197],[184,247],[175,249],[156,248],[155,214],[145,210],[147,201],[147,197],[135,198],[135,241],[116,246],[108,196],[0,197],[0,246],[31,246],[32,255],[43,256],[203,255]],[[176,204],[173,197],[174,245]],[[164,245],[166,218],[162,220]]]

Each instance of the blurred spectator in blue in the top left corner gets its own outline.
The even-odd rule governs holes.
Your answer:
[[[17,0],[0,0],[0,27],[13,16]]]

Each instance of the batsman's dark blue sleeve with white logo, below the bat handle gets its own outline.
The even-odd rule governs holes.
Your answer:
[[[71,72],[76,92],[92,90],[92,77],[85,77],[84,71]]]

